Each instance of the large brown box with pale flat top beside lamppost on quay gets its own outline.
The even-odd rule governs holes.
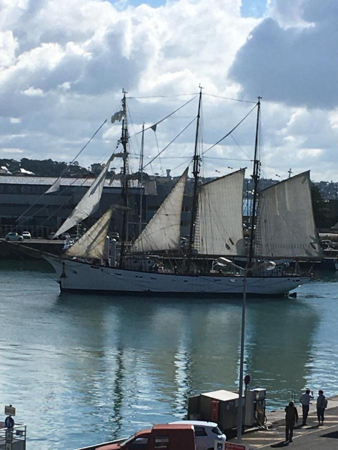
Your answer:
[[[237,426],[238,393],[229,390],[215,390],[189,398],[188,418],[216,422],[221,429]],[[244,397],[243,397],[244,398]],[[244,400],[243,412],[244,412]]]

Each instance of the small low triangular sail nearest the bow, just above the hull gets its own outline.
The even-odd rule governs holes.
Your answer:
[[[104,259],[107,233],[114,207],[110,207],[65,254],[84,258]]]

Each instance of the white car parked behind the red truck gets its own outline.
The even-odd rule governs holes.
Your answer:
[[[218,428],[215,422],[206,422],[202,420],[177,420],[176,422],[193,425],[195,429],[196,437],[196,450],[213,450],[215,446],[215,440],[226,441],[226,435]]]

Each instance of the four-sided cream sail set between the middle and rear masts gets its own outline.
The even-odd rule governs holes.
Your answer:
[[[202,184],[194,247],[201,254],[244,255],[242,199],[245,169]]]

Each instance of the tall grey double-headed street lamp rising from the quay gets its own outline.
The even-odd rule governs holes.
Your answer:
[[[247,273],[256,269],[265,268],[272,270],[276,263],[274,261],[265,261],[260,264],[255,264],[251,267],[240,267],[234,264],[231,259],[220,256],[216,259],[217,264],[221,266],[232,265],[233,267],[243,270],[243,302],[242,302],[242,325],[241,325],[241,340],[240,340],[240,360],[239,360],[239,388],[238,388],[238,416],[237,416],[237,442],[242,441],[242,400],[243,400],[243,367],[244,367],[244,337],[245,337],[245,308],[246,308],[246,277]]]

